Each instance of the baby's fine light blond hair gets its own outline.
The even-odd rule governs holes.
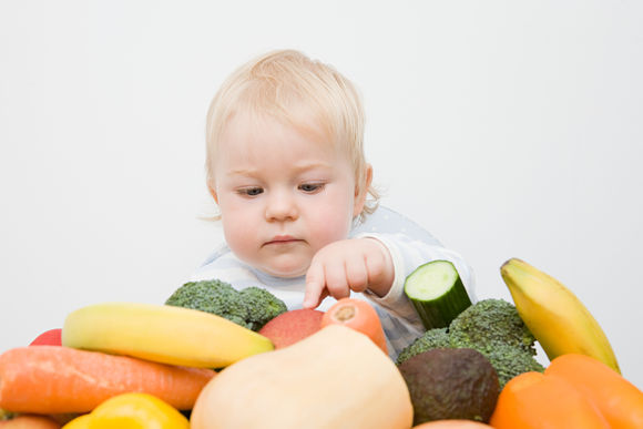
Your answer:
[[[330,143],[345,146],[355,167],[356,182],[364,183],[366,159],[361,99],[353,83],[331,65],[295,50],[279,50],[234,71],[212,100],[207,112],[206,172],[211,185],[218,140],[229,119],[239,111],[269,115],[299,130],[323,132]],[[366,192],[370,198],[366,200],[360,221],[377,208],[379,200],[374,186]]]

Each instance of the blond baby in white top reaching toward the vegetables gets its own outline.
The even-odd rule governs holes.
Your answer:
[[[363,141],[359,94],[334,68],[286,50],[236,70],[207,115],[207,187],[225,244],[192,279],[264,287],[289,309],[366,297],[397,356],[423,331],[406,276],[448,259],[470,292],[472,278],[459,255],[410,234],[412,223],[395,231],[405,219],[377,208]]]

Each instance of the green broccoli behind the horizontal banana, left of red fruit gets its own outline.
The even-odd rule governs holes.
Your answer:
[[[252,330],[259,330],[287,309],[265,289],[253,286],[239,292],[217,279],[186,283],[165,304],[212,313]]]

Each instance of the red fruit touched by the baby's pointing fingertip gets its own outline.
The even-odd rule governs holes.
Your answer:
[[[282,313],[268,321],[259,334],[269,338],[275,348],[284,348],[322,329],[324,311],[303,308]]]

